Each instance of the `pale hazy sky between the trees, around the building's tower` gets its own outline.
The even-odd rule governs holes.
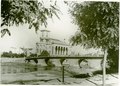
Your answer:
[[[62,14],[59,14],[60,20],[57,17],[53,19],[48,19],[48,26],[40,27],[40,29],[48,29],[50,30],[50,36],[52,38],[57,38],[61,41],[68,39],[74,35],[77,26],[71,23],[72,19],[70,14],[68,13],[68,6],[66,6],[63,2],[57,2]],[[19,51],[20,47],[35,47],[35,43],[39,42],[39,31],[36,34],[34,28],[28,29],[28,25],[20,25],[18,27],[12,26],[9,27],[11,36],[7,34],[0,39],[0,52],[9,51]],[[13,47],[17,48],[15,50]]]

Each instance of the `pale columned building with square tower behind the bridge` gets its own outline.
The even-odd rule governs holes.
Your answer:
[[[40,42],[36,43],[37,55],[40,55],[43,50],[48,51],[50,56],[70,55],[70,46],[59,39],[50,38],[49,30],[41,30]]]

